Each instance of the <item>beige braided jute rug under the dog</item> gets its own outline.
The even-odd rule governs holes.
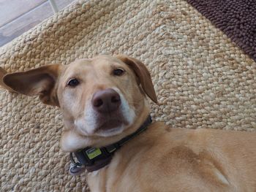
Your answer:
[[[187,1],[77,1],[0,50],[8,72],[124,53],[150,70],[154,120],[173,128],[256,129],[256,64]],[[0,92],[1,191],[88,191],[59,147],[61,112]]]

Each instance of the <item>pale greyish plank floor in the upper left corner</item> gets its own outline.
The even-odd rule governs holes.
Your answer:
[[[59,10],[74,0],[56,0]],[[53,15],[47,0],[0,0],[0,47]]]

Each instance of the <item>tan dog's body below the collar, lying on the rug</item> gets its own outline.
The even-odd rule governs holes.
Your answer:
[[[255,191],[255,156],[255,134],[153,123],[88,181],[91,191]]]

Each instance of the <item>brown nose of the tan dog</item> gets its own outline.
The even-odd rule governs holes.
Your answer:
[[[107,113],[118,110],[121,99],[113,88],[108,88],[94,93],[91,102],[97,112]]]

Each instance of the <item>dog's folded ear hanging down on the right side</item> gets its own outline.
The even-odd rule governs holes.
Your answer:
[[[138,59],[131,58],[127,55],[116,55],[116,58],[123,61],[124,64],[127,64],[135,72],[147,96],[157,104],[157,95],[154,91],[153,82],[146,66],[141,61],[138,61]]]

